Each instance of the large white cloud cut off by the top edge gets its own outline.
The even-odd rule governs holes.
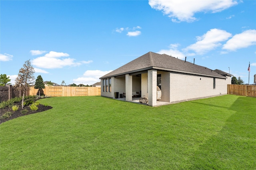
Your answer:
[[[198,12],[220,12],[238,4],[234,0],[149,0],[151,8],[162,11],[173,22],[193,22]]]

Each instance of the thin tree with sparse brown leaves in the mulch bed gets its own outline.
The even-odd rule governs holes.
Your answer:
[[[24,108],[24,94],[29,89],[30,85],[34,83],[34,67],[32,67],[30,60],[25,61],[23,67],[20,69],[18,73],[18,77],[15,79],[14,87],[17,90],[23,91],[22,95],[22,109]]]

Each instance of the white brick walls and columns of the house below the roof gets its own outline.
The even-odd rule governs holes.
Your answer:
[[[156,70],[149,70],[141,77],[111,77],[112,92],[101,92],[102,96],[114,98],[114,92],[126,92],[126,101],[132,101],[132,91],[141,90],[141,96],[148,97],[148,105],[156,106],[157,74],[161,74],[160,101],[177,102],[216,95],[227,94],[227,85],[231,84],[231,76],[225,79],[216,79],[216,88],[213,89],[213,78],[195,75],[184,75]],[[101,81],[103,82],[103,81]],[[141,86],[140,86],[141,82]]]

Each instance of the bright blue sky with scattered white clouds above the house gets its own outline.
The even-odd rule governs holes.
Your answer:
[[[0,73],[30,59],[44,81],[92,85],[148,53],[256,74],[255,0],[0,1]]]

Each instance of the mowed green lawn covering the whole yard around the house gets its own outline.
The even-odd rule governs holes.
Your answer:
[[[0,169],[255,169],[256,98],[161,107],[104,97],[40,99],[53,109],[0,125]]]

